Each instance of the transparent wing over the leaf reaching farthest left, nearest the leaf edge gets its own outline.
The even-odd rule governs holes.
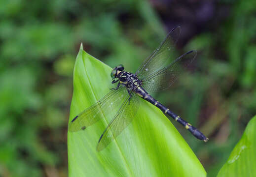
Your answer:
[[[98,102],[73,118],[69,123],[69,131],[74,132],[85,129],[107,115],[113,117],[120,105],[126,99],[127,95],[128,92],[125,87],[120,87],[117,90],[111,90]]]

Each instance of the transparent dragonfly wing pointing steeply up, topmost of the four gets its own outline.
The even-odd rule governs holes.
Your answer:
[[[143,61],[142,65],[136,71],[139,79],[144,79],[150,73],[162,68],[166,64],[167,59],[171,57],[175,44],[180,36],[181,27],[177,26],[172,29],[166,36],[160,46]]]

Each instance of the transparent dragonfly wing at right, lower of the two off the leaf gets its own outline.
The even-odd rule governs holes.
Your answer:
[[[187,67],[195,59],[195,57],[196,51],[189,51],[183,54],[169,64],[169,66],[148,75],[143,81],[142,87],[149,92],[169,88],[183,69]]]

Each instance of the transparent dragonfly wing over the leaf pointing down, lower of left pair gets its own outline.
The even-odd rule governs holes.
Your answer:
[[[100,151],[106,148],[110,142],[116,138],[135,118],[139,109],[139,97],[135,92],[131,93],[132,98],[129,103],[129,96],[123,103],[115,117],[110,121],[108,127],[105,129],[100,137],[97,150]]]

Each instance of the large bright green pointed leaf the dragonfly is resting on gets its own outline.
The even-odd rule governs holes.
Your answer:
[[[109,66],[84,52],[81,45],[74,66],[70,121],[110,91],[110,72]],[[100,152],[96,151],[97,143],[111,118],[68,132],[69,177],[206,176],[168,118],[145,100],[140,101],[138,116]]]

